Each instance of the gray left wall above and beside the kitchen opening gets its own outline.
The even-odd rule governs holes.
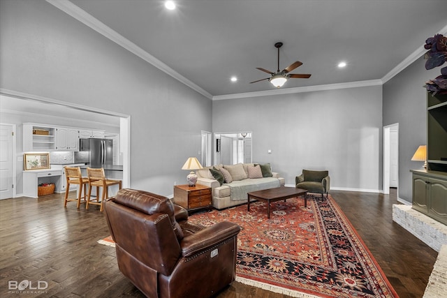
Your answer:
[[[131,115],[131,187],[186,183],[210,99],[44,0],[1,0],[0,38],[1,88]]]

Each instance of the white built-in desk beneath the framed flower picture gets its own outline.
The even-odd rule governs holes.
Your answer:
[[[23,171],[23,195],[25,197],[38,198],[37,186],[41,183],[54,183],[55,192],[59,192],[59,180],[62,170],[29,170]]]

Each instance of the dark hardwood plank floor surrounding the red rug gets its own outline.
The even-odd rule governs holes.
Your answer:
[[[331,191],[397,294],[422,297],[437,252],[393,222],[396,193]],[[98,206],[85,210],[63,196],[0,200],[0,297],[143,297],[118,269],[115,248],[96,243],[109,235]],[[39,293],[9,292],[11,281],[48,283]],[[29,288],[28,288],[29,290]],[[219,298],[284,298],[233,282]]]

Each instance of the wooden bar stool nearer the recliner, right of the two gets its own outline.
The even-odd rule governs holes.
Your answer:
[[[121,189],[121,180],[106,179],[104,174],[104,168],[94,169],[87,167],[87,175],[89,177],[89,195],[87,196],[87,204],[85,204],[85,209],[89,209],[89,204],[100,205],[103,211],[103,205],[105,200],[108,199],[108,187],[112,185],[118,185]],[[96,202],[90,200],[91,198],[91,188],[96,186]],[[99,201],[99,188],[103,188],[103,193],[101,195],[101,202]]]

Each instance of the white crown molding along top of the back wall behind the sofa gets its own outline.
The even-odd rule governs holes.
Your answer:
[[[245,92],[238,94],[226,94],[213,96],[212,100],[225,100],[225,99],[235,99],[235,98],[247,98],[247,97],[257,97],[257,96],[273,96],[280,94],[294,94],[312,91],[325,91],[333,89],[346,89],[346,88],[357,88],[357,87],[367,87],[367,86],[377,86],[381,85],[382,80],[367,80],[358,82],[346,82],[339,84],[325,84],[307,87],[296,87],[296,88],[284,88],[284,89],[274,89],[267,91],[256,91],[256,92]]]

